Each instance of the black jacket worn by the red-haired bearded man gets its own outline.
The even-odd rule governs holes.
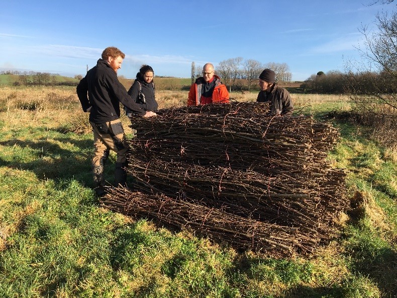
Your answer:
[[[91,107],[89,121],[104,123],[120,118],[120,103],[138,115],[145,115],[141,108],[127,94],[127,90],[117,79],[117,73],[103,59],[88,70],[87,75],[76,88],[83,111]]]

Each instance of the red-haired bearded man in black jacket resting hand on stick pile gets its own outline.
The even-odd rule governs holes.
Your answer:
[[[98,195],[105,194],[104,163],[109,150],[117,153],[115,185],[125,186],[128,164],[129,145],[123,125],[120,122],[120,103],[144,117],[155,116],[156,113],[144,111],[135,103],[124,86],[117,78],[117,71],[125,54],[116,47],[107,47],[102,52],[96,66],[88,70],[87,75],[77,85],[76,91],[84,112],[89,112],[89,123],[94,135],[94,156],[92,172],[95,191]]]

